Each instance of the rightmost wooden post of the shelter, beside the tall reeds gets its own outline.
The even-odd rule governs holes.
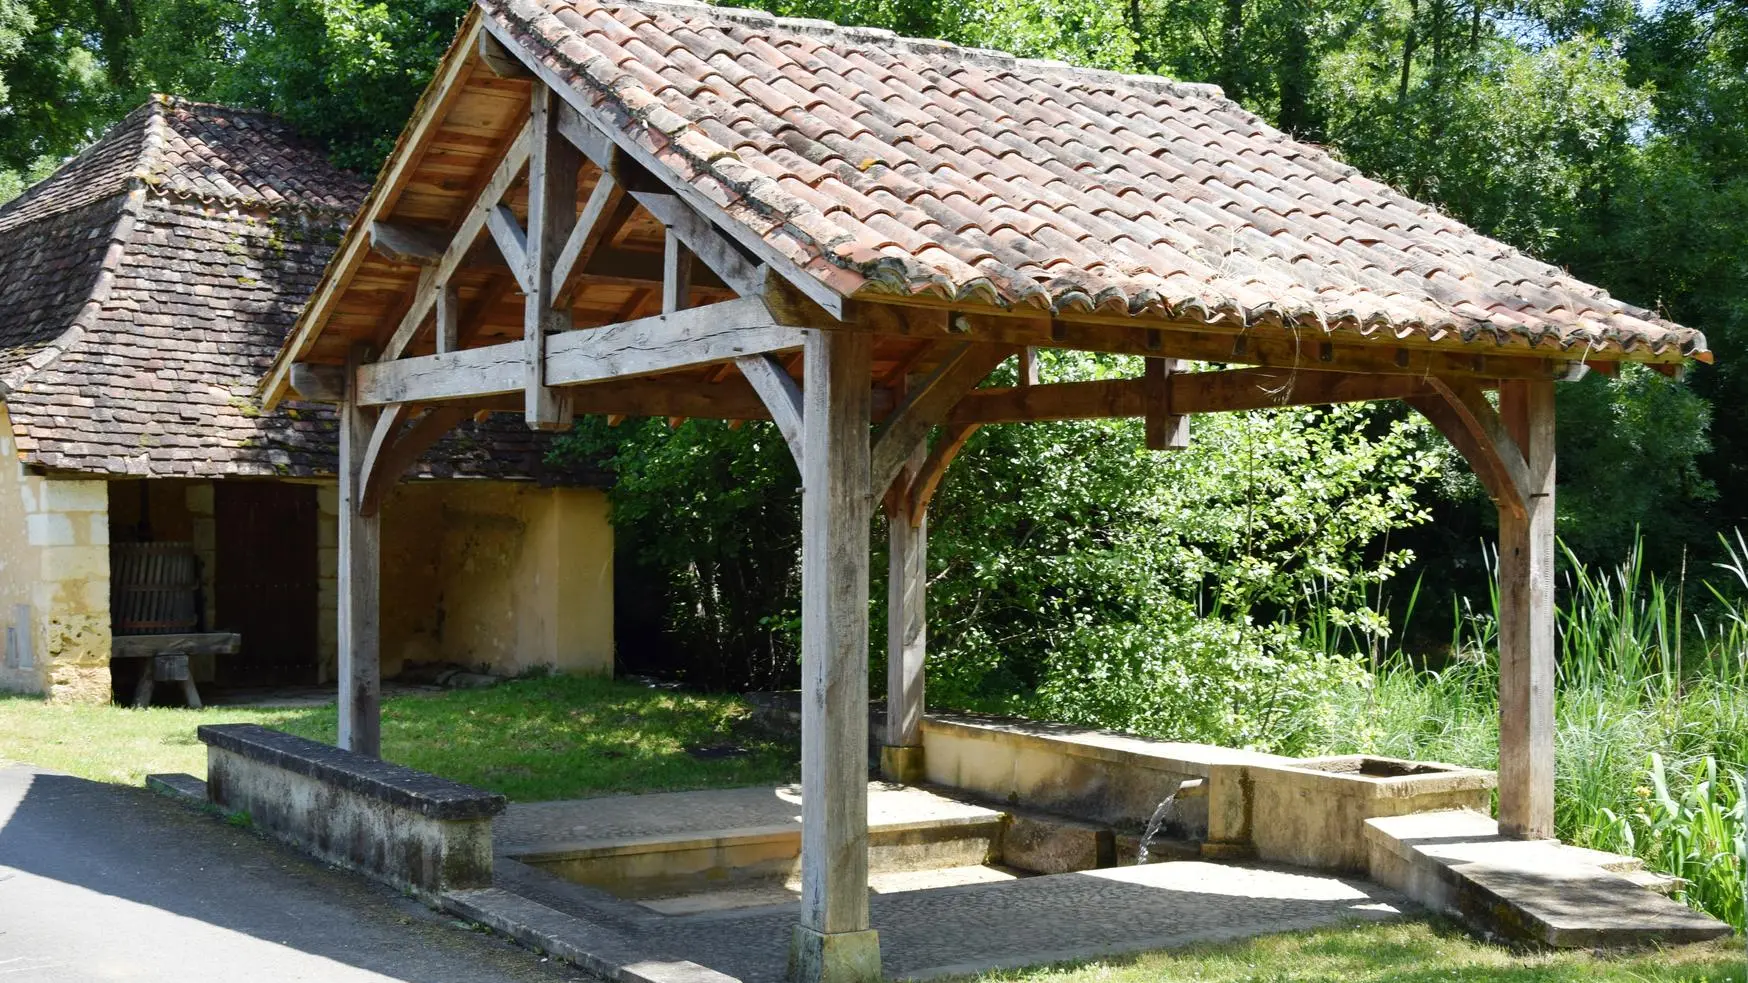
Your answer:
[[[1554,836],[1554,383],[1500,387],[1530,469],[1524,516],[1500,509],[1500,833]]]

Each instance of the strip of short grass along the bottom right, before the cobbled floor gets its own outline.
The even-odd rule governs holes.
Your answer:
[[[1152,952],[1133,959],[1021,969],[979,983],[1743,983],[1741,939],[1669,952],[1521,953],[1470,939],[1447,924],[1360,922],[1243,943]]]

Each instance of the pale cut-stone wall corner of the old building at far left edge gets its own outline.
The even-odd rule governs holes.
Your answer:
[[[26,474],[3,408],[0,626],[0,689],[108,701],[108,486]]]

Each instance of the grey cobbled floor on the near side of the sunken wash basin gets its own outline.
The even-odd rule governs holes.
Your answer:
[[[608,962],[689,960],[745,983],[785,980],[797,904],[662,917],[516,862],[500,862],[498,885],[570,915],[554,938]],[[489,915],[486,896],[502,892],[481,894],[474,917]],[[1183,861],[876,894],[871,917],[886,976],[902,980],[1393,918],[1404,904],[1360,880]],[[505,924],[526,922],[512,904],[503,913]]]

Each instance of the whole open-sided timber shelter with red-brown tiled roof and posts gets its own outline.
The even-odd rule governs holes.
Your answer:
[[[1145,357],[1038,385],[1040,346]],[[989,423],[1400,399],[1498,502],[1502,829],[1552,833],[1554,387],[1704,339],[1218,89],[675,2],[477,0],[266,381],[343,402],[341,740],[378,750],[376,509],[479,409],[773,420],[802,476],[799,980],[872,980],[867,530],[914,773],[930,495]],[[1021,385],[979,388],[1005,359]],[[1180,371],[1182,360],[1215,371]],[[1498,401],[1489,397],[1498,394]]]

